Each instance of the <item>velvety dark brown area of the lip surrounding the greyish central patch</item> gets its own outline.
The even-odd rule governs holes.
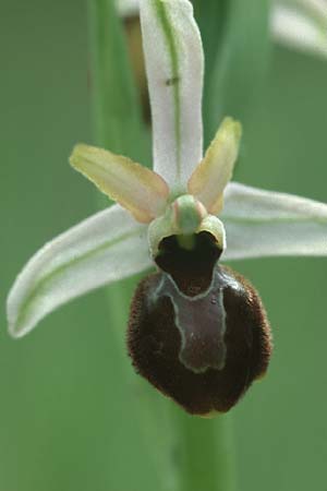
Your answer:
[[[128,347],[135,370],[195,415],[228,411],[265,373],[271,354],[269,324],[256,290],[228,267],[216,266],[216,272],[227,313],[227,358],[222,370],[209,368],[195,373],[180,361],[181,335],[171,300],[161,296],[153,301],[153,292],[165,273],[143,279],[131,307]],[[201,333],[202,325],[199,336]]]

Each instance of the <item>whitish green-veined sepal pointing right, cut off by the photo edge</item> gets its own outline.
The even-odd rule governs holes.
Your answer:
[[[222,261],[275,255],[327,255],[327,204],[230,183],[220,215]]]

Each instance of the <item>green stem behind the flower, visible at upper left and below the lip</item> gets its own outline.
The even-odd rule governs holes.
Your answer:
[[[112,0],[89,0],[93,115],[96,143],[112,152],[150,161],[149,139],[141,119],[133,76],[128,62],[121,24]],[[104,206],[101,201],[101,206]],[[108,202],[107,202],[108,204]],[[109,288],[110,323],[118,333],[122,383],[131,380],[123,354],[128,304],[135,279]],[[114,335],[113,335],[114,337]],[[126,375],[124,378],[124,375]],[[121,376],[118,373],[118,376]],[[130,386],[130,384],[129,384]],[[135,395],[137,394],[137,395]],[[144,428],[158,491],[234,491],[230,421],[190,417],[140,380],[131,391],[135,422]],[[150,410],[149,410],[150,408]]]

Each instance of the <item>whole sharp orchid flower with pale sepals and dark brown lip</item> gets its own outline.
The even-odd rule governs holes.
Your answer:
[[[117,204],[28,261],[8,297],[9,332],[21,337],[73,298],[155,266],[132,301],[133,364],[187,411],[209,415],[232,407],[271,352],[258,294],[221,261],[327,255],[327,205],[230,182],[241,124],[226,118],[203,155],[204,56],[192,4],[142,0],[141,24],[154,170],[76,145],[72,166]]]

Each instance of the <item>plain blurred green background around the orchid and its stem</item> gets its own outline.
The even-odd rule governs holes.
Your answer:
[[[0,491],[152,491],[158,474],[133,412],[136,375],[124,376],[104,291],[22,340],[7,334],[20,268],[96,208],[93,187],[68,165],[75,142],[93,142],[84,2],[2,0],[0,39]],[[326,81],[327,60],[275,48],[239,181],[327,202]],[[233,267],[261,291],[275,336],[267,378],[232,411],[239,489],[325,489],[327,259]]]

